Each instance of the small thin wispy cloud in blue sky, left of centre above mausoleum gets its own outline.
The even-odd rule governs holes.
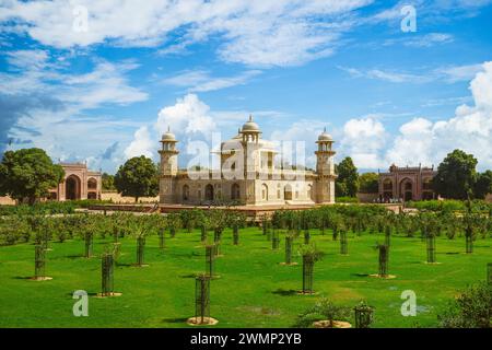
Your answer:
[[[260,73],[261,71],[259,70],[248,70],[235,77],[211,77],[208,71],[195,70],[164,79],[163,83],[188,88],[189,92],[207,92],[244,85]]]

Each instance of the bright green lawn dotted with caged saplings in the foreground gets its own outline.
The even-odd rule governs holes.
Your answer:
[[[210,235],[213,235],[210,233]],[[187,327],[186,318],[195,312],[194,275],[204,270],[204,248],[198,231],[179,232],[166,237],[162,252],[157,237],[148,237],[145,262],[136,260],[136,242],[125,238],[119,265],[115,268],[115,289],[122,296],[90,298],[89,317],[74,317],[72,293],[89,294],[101,289],[101,259],[82,257],[83,242],[51,243],[47,253],[46,275],[51,281],[32,281],[34,246],[22,244],[0,247],[0,327]],[[96,238],[94,252],[105,242]],[[241,231],[241,245],[232,245],[232,232],[223,234],[223,257],[211,282],[211,316],[220,327],[290,327],[296,315],[325,295],[339,304],[353,306],[361,299],[375,306],[374,327],[436,326],[436,315],[457,291],[485,279],[487,262],[492,261],[490,240],[478,240],[472,255],[462,254],[465,238],[437,238],[437,261],[426,265],[425,243],[420,238],[394,236],[389,273],[396,279],[370,278],[377,272],[376,241],[382,235],[349,234],[349,256],[340,256],[339,242],[331,235],[312,231],[312,242],[326,253],[315,265],[314,288],[317,295],[297,295],[302,287],[302,266],[281,266],[284,240],[273,252],[261,231]],[[302,244],[303,237],[296,241]],[[459,253],[459,254],[457,254]],[[300,261],[300,257],[295,257]],[[418,315],[403,317],[400,306],[405,290],[417,293]]]

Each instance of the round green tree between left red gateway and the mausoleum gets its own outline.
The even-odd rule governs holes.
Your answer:
[[[143,155],[129,159],[115,175],[115,187],[122,196],[154,197],[159,194],[159,172],[151,159]]]

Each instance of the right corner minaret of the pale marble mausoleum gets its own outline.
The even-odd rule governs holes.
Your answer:
[[[316,153],[316,202],[318,203],[335,203],[335,151],[332,149],[333,139],[326,132],[326,128],[318,137],[316,143],[318,150]]]

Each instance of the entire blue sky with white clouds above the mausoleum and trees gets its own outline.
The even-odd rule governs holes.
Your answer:
[[[113,173],[171,126],[185,166],[253,114],[309,165],[327,127],[361,170],[455,148],[492,168],[491,23],[489,0],[0,0],[0,152]]]

